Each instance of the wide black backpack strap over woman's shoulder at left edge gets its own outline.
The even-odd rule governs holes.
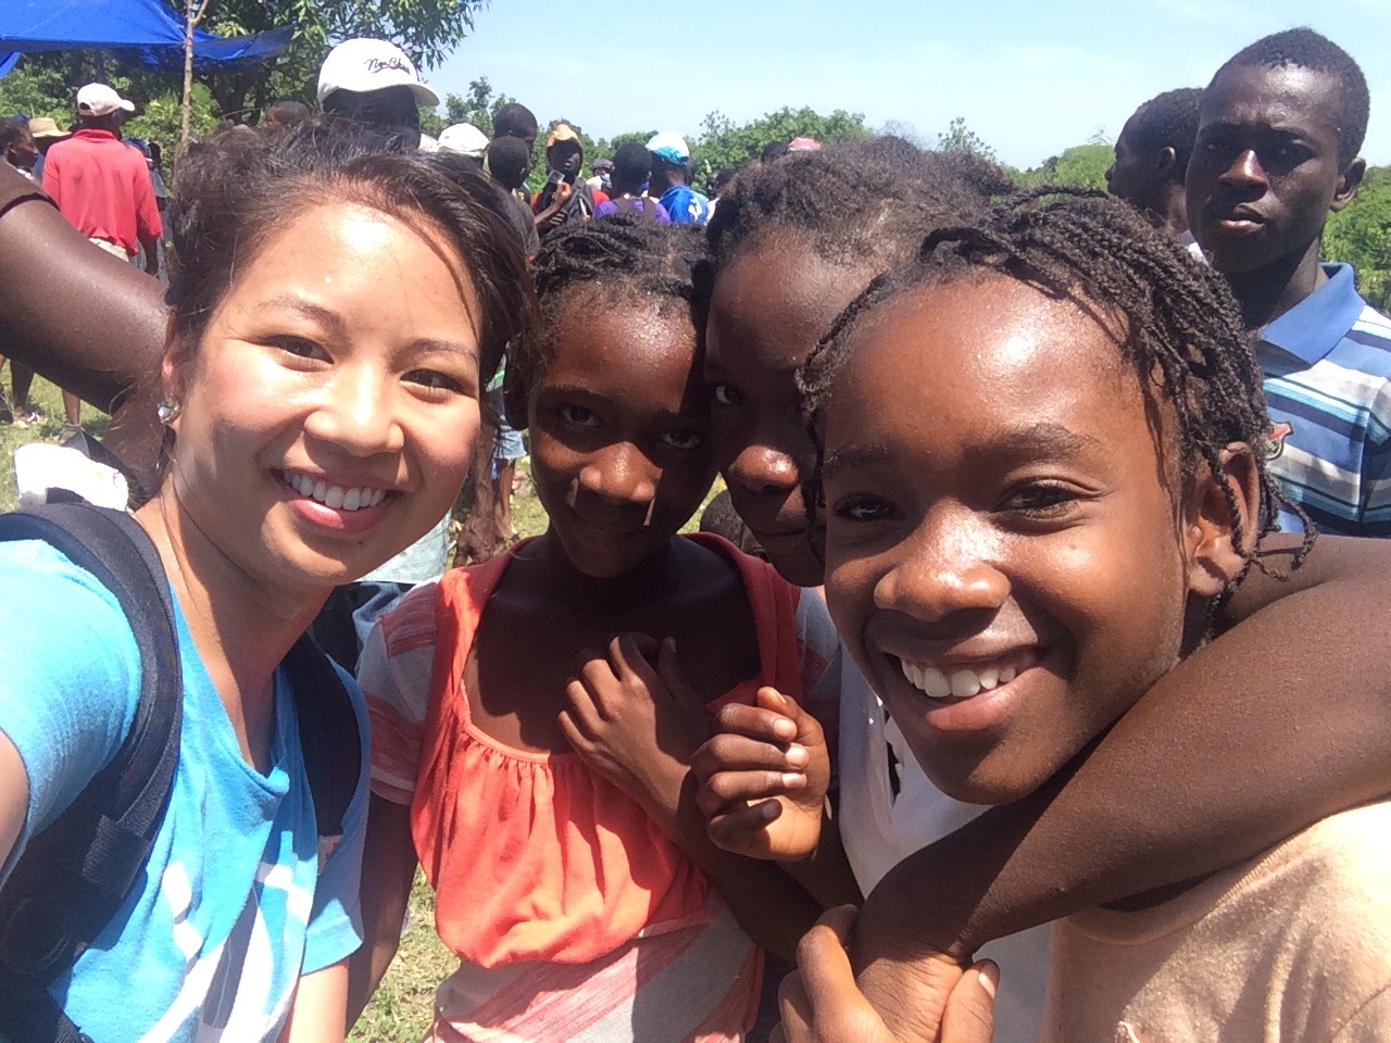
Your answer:
[[[150,854],[178,763],[184,680],[168,580],[136,522],[86,503],[0,516],[0,540],[43,540],[117,598],[140,654],[140,695],[120,750],[32,837],[0,887],[0,1037],[81,1040],[45,986],[120,909]]]

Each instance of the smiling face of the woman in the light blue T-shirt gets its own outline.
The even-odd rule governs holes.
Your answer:
[[[442,238],[377,210],[307,210],[274,236],[196,348],[164,364],[161,509],[260,588],[355,580],[449,509],[479,430],[477,312]],[[332,508],[287,476],[385,495]],[[188,526],[181,526],[181,528]]]

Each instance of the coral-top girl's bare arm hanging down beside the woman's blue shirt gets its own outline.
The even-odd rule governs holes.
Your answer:
[[[373,794],[362,859],[362,947],[348,961],[348,1026],[362,1017],[401,944],[416,876],[410,808]]]

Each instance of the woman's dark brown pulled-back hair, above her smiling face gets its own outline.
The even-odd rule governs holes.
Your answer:
[[[179,160],[168,303],[175,334],[196,345],[223,298],[270,239],[317,206],[359,203],[430,225],[455,248],[477,296],[480,377],[527,330],[536,299],[508,200],[447,154],[383,152],[370,131],[307,124],[275,138],[218,135]]]

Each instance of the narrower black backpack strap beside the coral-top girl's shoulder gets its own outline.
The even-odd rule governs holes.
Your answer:
[[[328,656],[303,634],[281,663],[295,693],[299,747],[314,797],[319,836],[341,837],[362,775],[362,736],[348,688]]]

